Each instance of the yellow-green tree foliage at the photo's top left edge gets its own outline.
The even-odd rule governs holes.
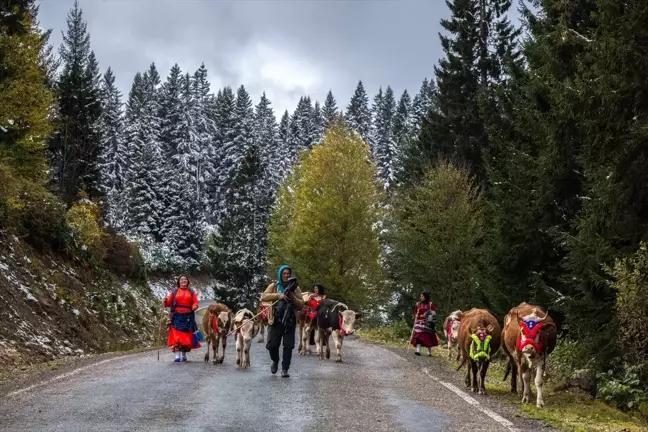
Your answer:
[[[19,13],[18,5],[13,8]],[[12,167],[18,176],[43,184],[53,96],[40,67],[43,38],[34,20],[31,13],[24,14],[23,31],[13,34],[0,28],[0,163]]]

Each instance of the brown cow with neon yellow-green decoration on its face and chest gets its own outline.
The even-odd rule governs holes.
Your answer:
[[[463,359],[457,370],[461,369],[466,361],[469,362],[465,381],[466,387],[471,388],[474,393],[486,394],[486,372],[490,359],[499,349],[501,341],[502,328],[490,312],[474,308],[464,312],[457,338]]]

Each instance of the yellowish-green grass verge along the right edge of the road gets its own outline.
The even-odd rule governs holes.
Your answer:
[[[406,330],[406,329],[405,329]],[[407,349],[408,338],[404,329],[391,328],[359,329],[360,339],[379,343],[390,348]],[[448,360],[448,351],[443,347],[432,350],[433,356],[446,362],[448,367],[457,363]],[[453,355],[454,358],[454,355]],[[641,432],[648,431],[648,423],[599,400],[592,400],[581,391],[554,391],[551,382],[545,383],[545,407],[538,409],[535,403],[521,404],[517,394],[510,392],[508,380],[502,381],[506,363],[501,353],[495,356],[486,378],[486,389],[506,402],[517,405],[530,418],[540,420],[549,426],[566,432]],[[532,380],[533,381],[533,380]],[[533,387],[535,396],[535,387]]]

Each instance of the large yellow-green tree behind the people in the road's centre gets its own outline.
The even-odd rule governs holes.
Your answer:
[[[343,125],[302,155],[281,187],[269,233],[270,274],[290,264],[303,288],[315,282],[351,307],[378,297],[380,189],[362,139]]]

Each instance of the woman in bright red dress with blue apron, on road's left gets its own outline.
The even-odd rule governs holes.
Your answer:
[[[200,342],[194,337],[198,330],[194,315],[198,309],[198,296],[196,291],[189,288],[189,279],[186,276],[178,278],[178,286],[166,298],[164,307],[171,308],[168,345],[175,353],[174,361],[187,361],[187,353],[194,348],[200,348]]]

